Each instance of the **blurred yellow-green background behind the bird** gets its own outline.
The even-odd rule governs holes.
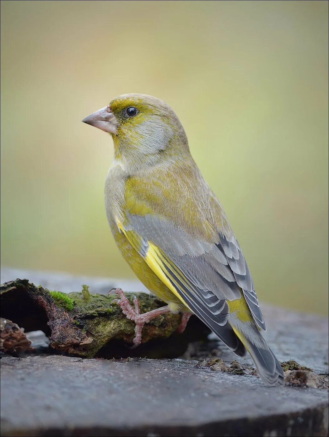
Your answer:
[[[263,302],[327,311],[326,1],[2,1],[2,265],[133,278],[103,186],[123,93],[174,108]]]

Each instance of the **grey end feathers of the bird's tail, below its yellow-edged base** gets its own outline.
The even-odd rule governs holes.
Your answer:
[[[253,358],[258,374],[265,385],[283,385],[284,384],[284,372],[280,363],[276,359],[271,349],[267,346],[263,337],[261,337],[264,348],[259,347],[251,342],[245,344],[248,352]]]

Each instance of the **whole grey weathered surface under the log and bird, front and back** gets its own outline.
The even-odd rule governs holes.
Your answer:
[[[69,277],[68,285],[66,276],[16,273],[4,271],[1,279],[25,276],[60,291],[79,291],[87,283],[93,292],[106,292],[120,285],[86,277]],[[138,291],[136,283],[126,287]],[[44,353],[1,359],[1,435],[328,435],[328,321],[262,308],[267,341],[293,369],[291,385],[264,387],[252,361],[237,358],[215,336],[191,343],[184,359],[104,360],[48,355],[42,334],[29,333],[32,346]],[[172,353],[170,343],[161,344],[161,357]],[[315,373],[295,370],[290,360]]]

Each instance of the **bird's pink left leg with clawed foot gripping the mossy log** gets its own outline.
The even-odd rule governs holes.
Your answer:
[[[135,326],[135,337],[133,340],[134,346],[137,347],[141,344],[142,340],[142,329],[145,323],[148,323],[154,317],[161,316],[162,314],[166,314],[170,312],[168,305],[161,306],[161,308],[152,309],[151,311],[140,313],[139,309],[139,300],[136,296],[134,296],[134,307],[130,305],[129,300],[124,294],[121,288],[116,288],[114,292],[119,296],[119,299],[114,299],[113,302],[116,302],[117,305],[120,305],[123,314],[127,317],[127,319],[133,320],[136,324]],[[186,322],[187,323],[187,322]]]

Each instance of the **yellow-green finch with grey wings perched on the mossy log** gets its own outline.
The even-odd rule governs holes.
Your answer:
[[[105,205],[117,246],[168,304],[140,314],[137,298],[132,307],[117,289],[117,303],[136,323],[134,345],[153,317],[182,312],[182,331],[193,313],[236,355],[247,350],[265,384],[283,384],[260,334],[265,324],[246,260],[175,112],[155,97],[124,94],[82,121],[113,137]]]

